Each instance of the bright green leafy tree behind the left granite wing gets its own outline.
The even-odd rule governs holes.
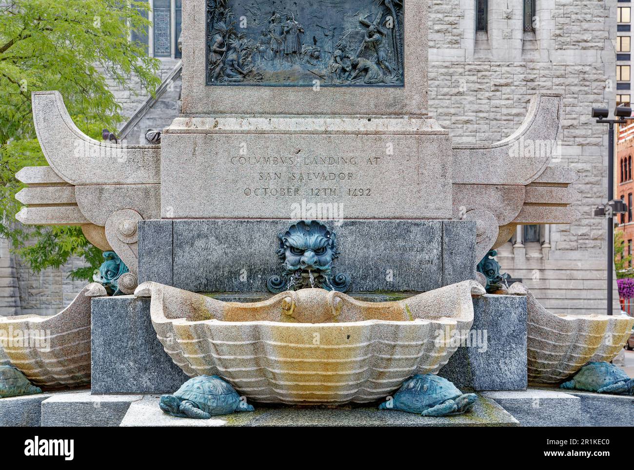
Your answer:
[[[128,39],[148,27],[141,15],[147,9],[146,2],[113,0],[13,0],[0,7],[0,236],[35,272],[79,256],[88,266],[71,276],[89,279],[102,258],[80,227],[25,230],[15,223],[15,193],[23,187],[15,173],[47,164],[30,93],[60,91],[77,127],[95,139],[101,129],[117,129],[124,118],[105,75],[127,89],[132,75],[150,92],[160,84],[159,61]]]

